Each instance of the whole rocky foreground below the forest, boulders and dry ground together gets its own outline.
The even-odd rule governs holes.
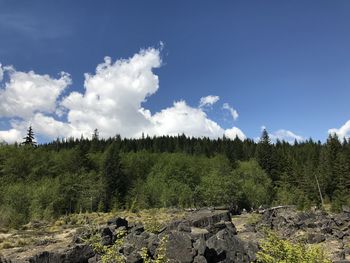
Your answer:
[[[164,214],[166,218],[159,220]],[[31,234],[37,239],[21,247],[3,246],[0,263],[100,262],[96,247],[107,248],[116,241],[121,242],[120,255],[130,263],[143,262],[145,257],[154,259],[163,252],[170,262],[254,262],[265,229],[293,242],[320,244],[334,262],[350,263],[347,212],[332,215],[286,207],[233,217],[226,210],[215,209],[164,214],[155,213],[143,222],[125,215],[114,216],[104,224],[87,220],[51,232],[40,225],[28,226],[22,235],[16,235],[23,239],[24,234],[36,231]],[[2,243],[11,238],[15,239],[13,233],[0,233]]]

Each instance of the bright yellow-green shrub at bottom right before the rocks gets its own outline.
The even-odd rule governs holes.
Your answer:
[[[291,243],[278,238],[273,232],[266,233],[261,243],[261,251],[257,253],[260,263],[331,263],[323,249],[317,245]]]

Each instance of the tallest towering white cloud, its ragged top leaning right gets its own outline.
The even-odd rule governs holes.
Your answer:
[[[158,76],[152,69],[160,65],[159,50],[153,48],[115,63],[106,57],[95,75],[85,74],[85,93],[73,92],[62,102],[72,135],[90,136],[98,128],[103,137],[117,133],[134,137],[150,125],[140,109],[142,102],[158,90]]]

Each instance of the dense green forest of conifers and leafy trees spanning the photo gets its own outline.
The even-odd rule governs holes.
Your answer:
[[[0,145],[0,226],[119,209],[350,205],[350,140],[185,135]]]

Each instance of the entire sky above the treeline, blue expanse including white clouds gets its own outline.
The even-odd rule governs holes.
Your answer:
[[[0,141],[350,136],[350,1],[0,0]]]

